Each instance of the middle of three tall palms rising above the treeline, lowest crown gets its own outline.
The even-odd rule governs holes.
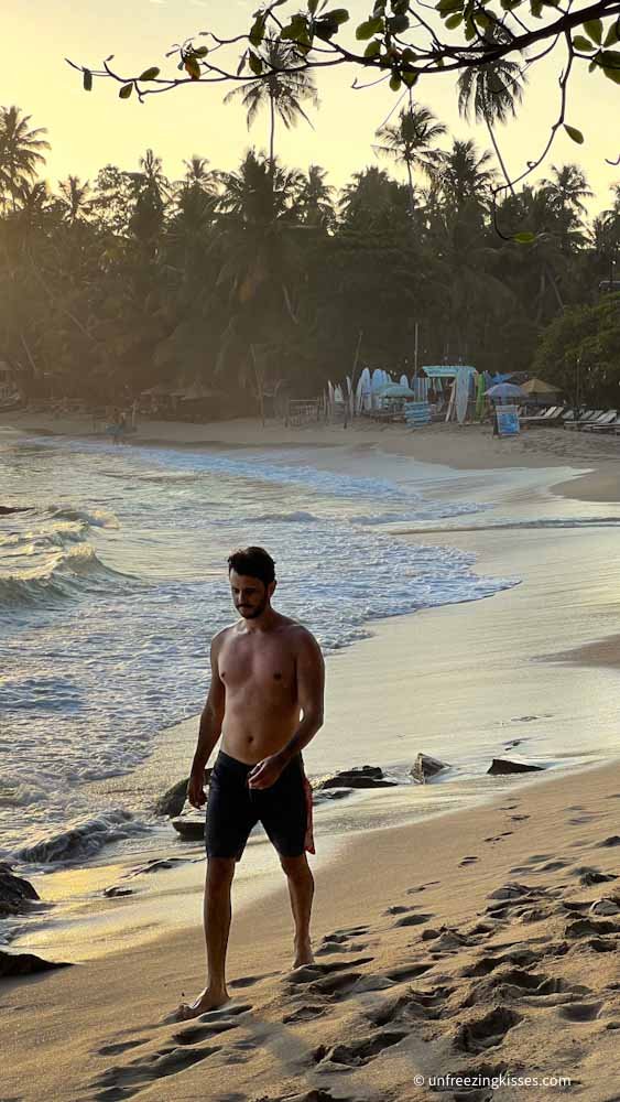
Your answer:
[[[380,127],[377,131],[380,143],[372,147],[374,151],[393,161],[404,161],[406,165],[412,215],[415,210],[413,171],[420,169],[431,180],[436,176],[443,154],[433,149],[433,143],[445,133],[446,127],[437,122],[427,107],[414,107],[413,104],[401,111],[398,122]]]

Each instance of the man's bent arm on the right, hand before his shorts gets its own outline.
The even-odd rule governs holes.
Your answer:
[[[291,758],[303,750],[323,726],[325,662],[318,642],[309,631],[301,637],[296,653],[297,701],[304,717],[295,734],[278,754],[259,761],[250,774],[251,788],[269,788]]]

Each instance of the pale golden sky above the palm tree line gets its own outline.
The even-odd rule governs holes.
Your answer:
[[[33,125],[47,128],[52,185],[69,172],[93,179],[107,163],[134,169],[148,147],[163,158],[172,179],[182,175],[183,160],[195,153],[218,169],[233,169],[250,144],[265,148],[268,119],[259,118],[248,134],[242,108],[222,106],[220,85],[183,87],[143,105],[133,97],[122,102],[111,83],[95,82],[90,94],[83,91],[79,74],[64,58],[97,67],[113,53],[113,64],[128,75],[149,65],[163,67],[163,54],[175,42],[209,28],[239,33],[249,26],[255,7],[257,0],[11,0],[2,12],[0,104],[17,104]],[[361,19],[369,0],[352,0],[349,7]],[[498,132],[513,174],[539,155],[556,117],[559,56],[543,65],[531,76],[519,119]],[[322,109],[313,116],[314,129],[302,122],[292,132],[281,127],[276,134],[276,151],[285,163],[301,169],[320,164],[338,186],[352,172],[377,163],[374,130],[396,98],[383,85],[355,91],[352,78],[350,67],[318,74]],[[454,76],[428,77],[418,85],[416,99],[455,137],[475,137],[481,147],[489,145],[483,127],[459,119]],[[608,206],[609,187],[620,182],[620,170],[605,159],[620,155],[619,120],[620,87],[602,74],[588,74],[579,63],[567,121],[584,132],[586,143],[576,145],[562,132],[539,177],[552,164],[576,161],[597,193],[592,210]]]

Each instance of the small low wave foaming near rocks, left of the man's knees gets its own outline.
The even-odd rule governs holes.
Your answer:
[[[69,821],[58,831],[42,831],[14,854],[20,861],[31,864],[50,865],[65,861],[90,857],[110,842],[118,842],[131,834],[143,834],[150,830],[134,820],[129,811],[116,809],[106,811],[96,819],[80,818]]]

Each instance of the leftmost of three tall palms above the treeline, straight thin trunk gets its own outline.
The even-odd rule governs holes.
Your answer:
[[[263,52],[263,64],[267,67],[268,76],[248,80],[247,84],[233,88],[224,97],[225,104],[241,100],[247,111],[248,129],[254,122],[261,108],[269,108],[269,163],[272,172],[275,163],[276,117],[284,123],[286,130],[296,126],[300,119],[305,119],[308,126],[312,126],[302,102],[307,100],[313,107],[318,107],[318,95],[312,75],[300,71],[286,72],[295,61],[297,61],[297,55],[292,45],[280,41],[269,42]]]

